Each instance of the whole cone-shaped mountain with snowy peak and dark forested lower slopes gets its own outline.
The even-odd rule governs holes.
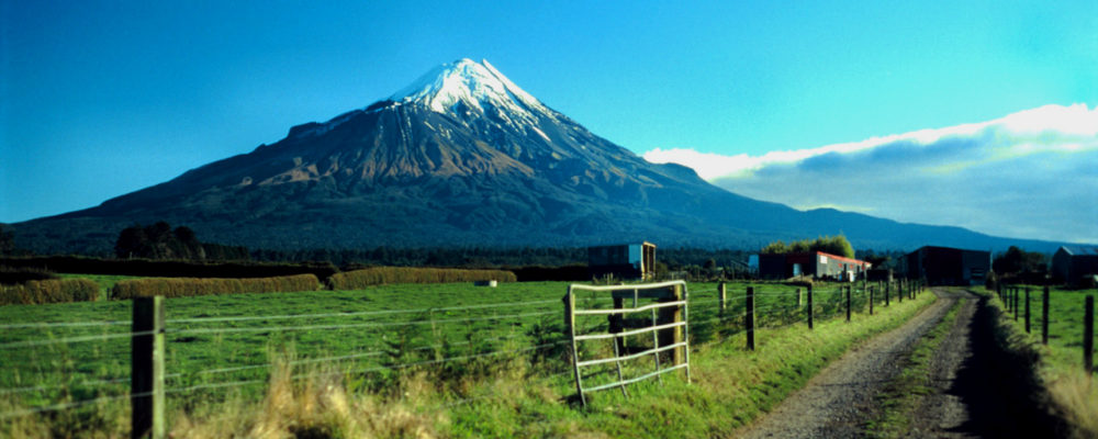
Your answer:
[[[758,248],[839,233],[856,248],[876,249],[1058,245],[740,196],[690,168],[646,161],[549,109],[488,61],[469,59],[365,109],[294,126],[249,154],[13,229],[34,251],[108,254],[120,230],[157,221],[211,241],[272,249],[639,239]]]

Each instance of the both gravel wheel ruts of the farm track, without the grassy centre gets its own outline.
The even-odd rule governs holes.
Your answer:
[[[805,389],[741,429],[742,438],[856,438],[876,436],[867,420],[875,396],[906,365],[912,347],[957,301],[950,334],[931,360],[931,392],[911,414],[912,438],[1061,437],[1062,424],[1034,402],[1026,359],[994,342],[991,308],[978,296],[934,290],[939,300],[904,326],[883,334],[827,367]],[[1013,385],[1006,385],[1011,383]]]

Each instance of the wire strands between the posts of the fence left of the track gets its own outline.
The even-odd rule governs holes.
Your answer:
[[[548,292],[554,296],[559,293]],[[802,324],[808,313],[807,304],[798,300],[807,292],[764,286],[753,294],[759,326],[747,328],[743,312],[748,294],[729,292],[722,300],[714,296],[717,293],[717,288],[692,292],[688,325],[694,340],[691,344],[714,339],[717,333],[730,337],[759,328]],[[841,291],[822,289],[814,294],[817,299],[813,313],[817,319],[842,313]],[[852,295],[862,297],[852,303],[861,311],[867,301],[865,291]],[[581,294],[576,300],[586,301],[586,308],[613,306],[612,301],[594,295]],[[240,391],[268,383],[276,368],[298,370],[291,378],[307,380],[367,376],[506,356],[522,356],[525,361],[531,354],[546,357],[549,362],[557,358],[559,364],[546,365],[542,372],[548,371],[545,376],[561,378],[567,370],[553,368],[567,367],[559,361],[565,350],[558,349],[567,342],[562,315],[560,299],[537,299],[434,307],[167,318],[169,373],[165,379],[170,385],[165,393],[180,396]],[[362,318],[367,320],[355,322]],[[277,324],[298,320],[301,324]],[[156,331],[133,331],[131,325],[122,319],[0,325],[4,330],[0,336],[0,356],[14,359],[8,367],[18,369],[3,375],[0,382],[0,397],[9,401],[5,407],[15,407],[0,413],[0,419],[117,404],[145,395],[130,394],[131,378],[117,374],[127,372],[131,340]],[[607,325],[606,319],[596,320],[583,330],[605,330]],[[271,352],[278,342],[317,348],[304,352],[304,358],[280,359],[279,352]],[[49,361],[51,356],[60,358]],[[490,396],[446,404],[467,404]]]

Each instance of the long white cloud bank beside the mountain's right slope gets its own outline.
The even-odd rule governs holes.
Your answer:
[[[762,156],[658,148],[643,157],[799,209],[1098,243],[1098,108],[1086,104]]]

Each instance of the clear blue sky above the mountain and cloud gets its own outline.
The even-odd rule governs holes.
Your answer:
[[[462,57],[637,154],[762,157],[1098,104],[1098,2],[773,3],[0,0],[0,222],[250,151]]]

